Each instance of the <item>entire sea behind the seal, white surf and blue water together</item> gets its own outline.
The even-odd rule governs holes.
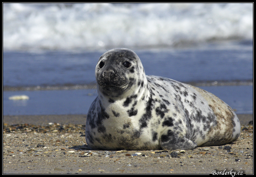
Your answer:
[[[3,115],[87,114],[99,57],[122,47],[253,113],[252,3],[3,3]]]

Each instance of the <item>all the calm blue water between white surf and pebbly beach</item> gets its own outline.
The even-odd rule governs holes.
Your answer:
[[[240,46],[239,50],[223,48],[170,51],[144,49],[135,52],[147,75],[159,75],[185,83],[213,82],[214,86],[200,88],[217,95],[236,113],[251,114],[253,50],[247,45]],[[102,52],[4,52],[3,86],[36,89],[3,91],[3,115],[87,114],[97,95],[96,87],[90,84],[95,83],[94,70],[101,54]],[[224,86],[216,84],[219,82],[223,82]],[[235,84],[230,86],[230,82]],[[88,85],[88,89],[70,89],[67,86],[66,90],[62,90],[63,85]],[[56,86],[57,89],[37,89],[47,86]],[[10,96],[23,94],[29,99],[8,99]]]

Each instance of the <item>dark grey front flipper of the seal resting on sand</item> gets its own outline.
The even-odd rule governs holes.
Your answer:
[[[162,149],[194,149],[198,145],[185,137],[178,137],[173,131],[168,130],[167,134],[162,134],[160,137],[160,145]]]

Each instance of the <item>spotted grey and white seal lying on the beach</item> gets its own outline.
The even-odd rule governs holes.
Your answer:
[[[92,149],[193,149],[239,137],[239,119],[226,103],[192,85],[146,76],[129,49],[104,53],[95,76],[98,96],[86,119]]]

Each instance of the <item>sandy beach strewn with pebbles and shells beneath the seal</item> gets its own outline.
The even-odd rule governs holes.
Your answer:
[[[253,174],[253,115],[236,142],[193,150],[91,150],[86,115],[3,116],[3,174]]]

